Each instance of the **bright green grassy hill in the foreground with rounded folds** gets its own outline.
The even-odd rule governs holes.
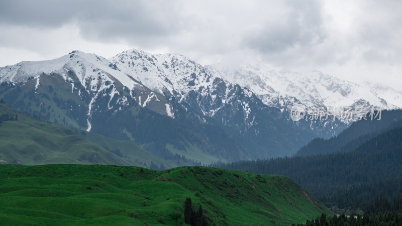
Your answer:
[[[0,222],[7,225],[157,225],[160,217],[176,225],[186,197],[217,225],[288,225],[330,213],[282,176],[206,167],[141,173],[121,166],[0,165]],[[174,211],[181,219],[171,217]]]

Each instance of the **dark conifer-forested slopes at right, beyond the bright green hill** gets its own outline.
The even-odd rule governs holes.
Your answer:
[[[327,206],[402,209],[402,127],[383,132],[349,152],[215,166],[290,177]]]

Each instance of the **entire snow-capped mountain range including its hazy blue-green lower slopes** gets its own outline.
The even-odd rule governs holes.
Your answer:
[[[289,119],[293,104],[399,108],[402,93],[315,71],[266,65],[204,67],[180,54],[124,51],[111,59],[72,51],[48,61],[0,68],[5,102],[48,122],[131,140],[177,164],[294,154],[349,122]],[[185,164],[185,163],[180,163]],[[180,165],[178,164],[178,165]]]

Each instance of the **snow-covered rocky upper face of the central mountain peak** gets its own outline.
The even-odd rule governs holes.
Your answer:
[[[174,98],[184,105],[195,101],[190,107],[200,117],[213,117],[225,104],[233,101],[239,101],[243,108],[247,108],[247,101],[240,101],[239,96],[234,95],[236,89],[241,90],[245,98],[254,97],[248,89],[223,81],[181,54],[151,55],[129,50],[116,55],[111,61],[119,70],[154,92]],[[171,116],[174,117],[174,112],[171,112]],[[247,116],[245,120],[247,124]]]

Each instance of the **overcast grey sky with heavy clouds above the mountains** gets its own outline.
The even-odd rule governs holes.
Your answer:
[[[0,66],[137,48],[402,91],[402,1],[0,1]]]

